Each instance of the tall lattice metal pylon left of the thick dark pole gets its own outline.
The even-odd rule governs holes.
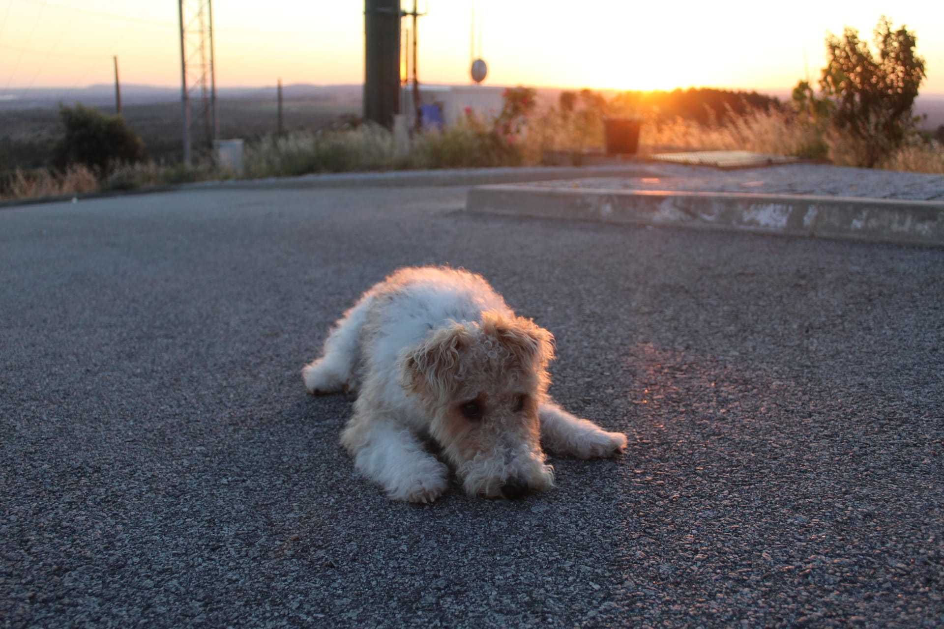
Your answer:
[[[177,0],[180,16],[180,93],[183,109],[183,160],[191,163],[192,94],[203,127],[202,145],[212,150],[219,135],[216,119],[216,74],[213,72],[212,0]]]

